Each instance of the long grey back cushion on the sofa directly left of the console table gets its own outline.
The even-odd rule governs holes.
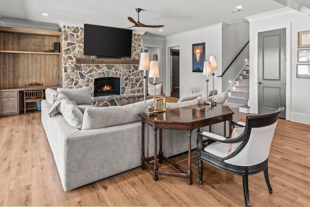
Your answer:
[[[153,99],[146,101],[147,106]],[[145,110],[144,101],[124,106],[89,107],[84,111],[82,129],[103,128],[141,121],[139,113]]]

